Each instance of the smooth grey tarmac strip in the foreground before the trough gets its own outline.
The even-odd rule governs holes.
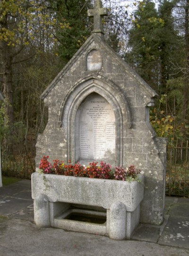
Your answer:
[[[0,256],[189,256],[189,250],[183,248],[38,229],[29,221],[15,219],[4,220],[0,231]]]

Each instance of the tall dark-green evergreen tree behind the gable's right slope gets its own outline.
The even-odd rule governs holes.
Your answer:
[[[160,95],[167,93],[166,81],[172,72],[172,59],[180,48],[179,36],[173,26],[172,6],[172,1],[164,0],[157,11],[152,0],[138,3],[129,35],[131,51],[126,54],[126,61]]]

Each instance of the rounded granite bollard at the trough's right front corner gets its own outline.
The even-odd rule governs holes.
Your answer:
[[[126,207],[123,203],[113,203],[110,207],[110,238],[123,240],[126,237]]]

